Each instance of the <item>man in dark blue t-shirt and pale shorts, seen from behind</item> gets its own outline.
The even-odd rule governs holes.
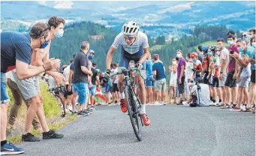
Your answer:
[[[156,91],[156,102],[155,105],[161,105],[165,101],[165,96],[166,96],[166,77],[165,77],[165,68],[163,63],[159,60],[159,55],[155,54],[153,56],[153,75],[155,78],[155,91]],[[161,102],[159,104],[159,102]]]

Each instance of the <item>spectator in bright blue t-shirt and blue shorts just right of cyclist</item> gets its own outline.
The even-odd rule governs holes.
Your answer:
[[[145,86],[146,86],[146,102],[150,105],[153,104],[153,62],[151,60],[151,55],[149,55],[149,58],[145,62],[146,65],[146,80],[145,80]]]

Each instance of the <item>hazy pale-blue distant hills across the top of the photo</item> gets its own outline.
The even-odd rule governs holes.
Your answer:
[[[29,8],[29,9],[28,9]],[[38,13],[38,10],[41,13]],[[92,21],[119,30],[127,20],[152,37],[179,37],[197,25],[242,31],[255,26],[254,1],[1,1],[1,19],[35,23],[56,15],[67,21]],[[5,29],[5,25],[2,25]],[[14,29],[17,29],[14,27]]]

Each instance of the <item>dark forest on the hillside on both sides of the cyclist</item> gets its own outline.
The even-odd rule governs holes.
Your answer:
[[[196,51],[194,47],[200,45],[200,43],[208,40],[217,40],[219,37],[226,39],[227,31],[228,29],[225,26],[195,26],[190,35],[171,40],[170,43],[165,43],[161,36],[155,40],[149,37],[149,46],[162,44],[160,48],[152,49],[151,52],[152,54],[158,53],[167,68],[170,65],[170,59],[176,55],[176,49],[182,49],[183,55],[185,55],[188,52]],[[236,33],[240,35],[239,31],[236,31]],[[50,56],[60,58],[62,65],[67,64],[74,52],[79,51],[81,41],[88,40],[90,49],[93,49],[96,54],[92,62],[95,62],[98,68],[104,71],[107,51],[117,34],[119,34],[119,31],[105,28],[95,23],[73,23],[65,27],[65,34],[62,38],[53,40]],[[119,62],[119,53],[120,49],[117,49],[113,62]]]

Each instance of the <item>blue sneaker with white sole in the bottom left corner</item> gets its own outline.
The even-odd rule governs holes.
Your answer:
[[[0,155],[11,155],[11,154],[21,154],[24,153],[25,150],[23,148],[18,148],[11,142],[6,142],[5,145],[1,147]]]

